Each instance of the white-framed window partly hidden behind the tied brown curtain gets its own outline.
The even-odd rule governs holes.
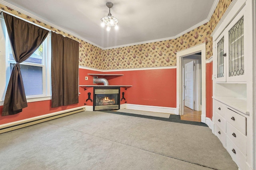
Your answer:
[[[6,89],[16,61],[5,22],[0,16],[0,106],[3,105]],[[50,34],[26,61],[20,63],[27,102],[50,100]]]

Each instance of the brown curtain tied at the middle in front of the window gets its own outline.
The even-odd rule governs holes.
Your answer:
[[[20,72],[20,63],[28,59],[46,39],[49,31],[4,13],[12,54],[16,64],[12,69],[4,98],[2,116],[13,115],[27,107],[27,100]]]

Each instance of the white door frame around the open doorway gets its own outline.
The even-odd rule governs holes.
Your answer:
[[[183,97],[182,97],[182,62],[181,57],[186,57],[195,53],[201,52],[201,81],[202,81],[202,115],[201,122],[206,123],[206,43],[201,43],[176,53],[176,109],[178,109],[179,115],[183,113]]]

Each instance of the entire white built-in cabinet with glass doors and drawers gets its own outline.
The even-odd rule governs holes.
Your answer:
[[[233,0],[212,33],[214,134],[240,170],[256,169],[252,0]]]

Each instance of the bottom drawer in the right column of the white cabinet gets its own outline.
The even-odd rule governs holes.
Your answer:
[[[236,147],[236,145],[227,136],[227,150],[232,159],[236,162],[239,169],[244,170],[246,168],[246,156]]]

